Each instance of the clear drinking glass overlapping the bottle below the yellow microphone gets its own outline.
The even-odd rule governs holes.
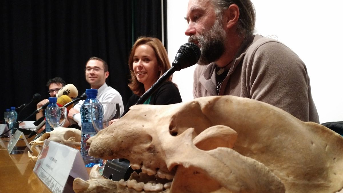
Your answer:
[[[67,118],[67,107],[48,106],[45,113],[52,128],[62,127]]]

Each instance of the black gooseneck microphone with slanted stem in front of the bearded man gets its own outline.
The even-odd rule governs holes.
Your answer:
[[[196,44],[188,42],[182,45],[177,51],[171,68],[159,77],[159,79],[137,100],[135,104],[143,104],[144,101],[149,98],[149,96],[151,96],[171,74],[176,70],[180,71],[181,69],[197,64],[199,58],[200,48]]]

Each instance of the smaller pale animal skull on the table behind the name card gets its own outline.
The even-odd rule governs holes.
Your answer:
[[[39,151],[35,148],[36,146],[42,146],[45,139],[55,141],[72,148],[77,148],[81,146],[81,130],[75,128],[57,127],[51,132],[44,133],[37,139],[31,141],[31,151],[33,155],[28,151],[27,156],[33,162],[37,161],[37,156]]]

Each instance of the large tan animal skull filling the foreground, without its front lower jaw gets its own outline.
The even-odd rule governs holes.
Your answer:
[[[282,192],[279,179],[286,192],[343,187],[340,135],[247,98],[135,105],[87,143],[91,156],[126,158],[160,178],[175,173],[170,192]]]

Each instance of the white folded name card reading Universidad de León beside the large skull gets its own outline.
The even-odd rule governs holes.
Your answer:
[[[89,179],[79,150],[48,139],[38,155],[33,172],[54,193],[68,192],[65,187],[69,175]]]

